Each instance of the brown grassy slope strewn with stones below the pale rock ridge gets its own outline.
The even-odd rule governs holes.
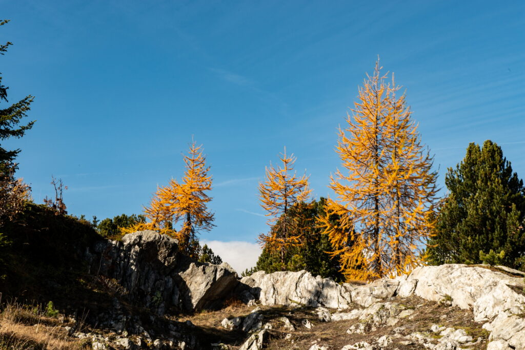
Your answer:
[[[220,330],[219,341],[229,349],[250,348],[244,340],[250,330],[266,338],[269,349],[481,349],[489,335],[472,321],[471,312],[417,296],[366,308],[352,305],[344,311],[299,304],[232,305],[188,319],[198,327]]]

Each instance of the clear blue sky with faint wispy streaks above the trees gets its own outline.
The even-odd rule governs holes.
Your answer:
[[[330,194],[337,127],[377,55],[406,88],[440,183],[469,142],[487,139],[525,177],[522,1],[0,6],[11,19],[0,40],[14,43],[0,57],[10,101],[36,96],[33,130],[6,145],[23,150],[18,176],[37,202],[62,178],[70,214],[140,213],[182,176],[193,135],[214,176],[216,228],[202,238],[253,243],[267,230],[257,184],[283,146],[314,196]],[[245,251],[250,264],[256,248]]]

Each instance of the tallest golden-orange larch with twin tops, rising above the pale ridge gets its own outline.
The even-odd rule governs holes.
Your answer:
[[[433,157],[421,144],[401,87],[385,82],[379,60],[359,89],[336,152],[344,172],[331,176],[335,200],[320,218],[347,279],[407,273],[421,263],[436,203]],[[328,220],[338,214],[341,220]]]

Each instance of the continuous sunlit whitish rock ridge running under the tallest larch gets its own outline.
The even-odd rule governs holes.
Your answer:
[[[501,268],[513,275],[523,273]],[[301,304],[344,310],[352,303],[369,307],[398,295],[417,295],[423,299],[451,303],[472,310],[474,321],[485,322],[491,332],[488,349],[525,350],[525,293],[523,278],[483,267],[445,264],[414,269],[409,275],[380,279],[365,285],[335,283],[313,277],[306,271],[259,271],[241,279],[246,294],[262,305]],[[240,288],[243,290],[243,288]]]

